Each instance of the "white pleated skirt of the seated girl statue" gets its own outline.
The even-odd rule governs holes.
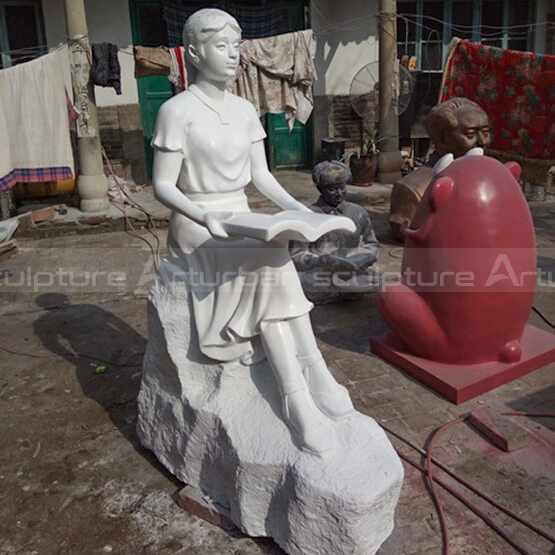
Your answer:
[[[242,191],[190,198],[206,212],[250,211]],[[174,212],[168,259],[183,271],[190,289],[200,349],[215,360],[248,357],[263,322],[296,318],[313,307],[286,243],[216,240],[204,226]]]

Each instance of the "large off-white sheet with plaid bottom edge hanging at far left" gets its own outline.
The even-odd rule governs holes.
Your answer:
[[[64,55],[0,70],[0,191],[73,177]]]

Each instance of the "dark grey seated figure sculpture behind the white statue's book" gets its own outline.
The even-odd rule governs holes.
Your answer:
[[[345,201],[350,177],[349,169],[341,162],[316,165],[312,179],[320,197],[310,208],[346,216],[355,222],[356,231],[333,231],[314,243],[290,244],[305,294],[316,304],[356,299],[378,285],[378,275],[371,266],[376,262],[379,244],[366,210]]]

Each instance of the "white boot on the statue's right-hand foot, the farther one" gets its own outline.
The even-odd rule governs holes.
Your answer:
[[[349,392],[335,381],[320,351],[297,358],[316,406],[333,420],[351,415],[355,409]]]

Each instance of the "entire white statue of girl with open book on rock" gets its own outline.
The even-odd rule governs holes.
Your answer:
[[[137,432],[247,534],[290,554],[371,553],[393,527],[402,467],[329,371],[285,242],[351,224],[318,218],[268,170],[254,107],[226,90],[240,33],[221,10],[191,15],[192,84],[158,113],[153,186],[172,216]],[[249,181],[286,212],[251,214]]]

